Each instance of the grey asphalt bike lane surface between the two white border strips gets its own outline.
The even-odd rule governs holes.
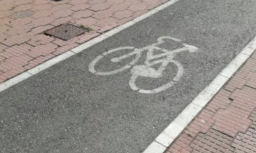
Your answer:
[[[252,40],[255,8],[254,0],[180,0],[1,92],[0,152],[142,152]],[[200,48],[175,56],[184,75],[166,91],[132,91],[129,70],[109,76],[88,71],[90,62],[107,50],[145,47],[160,36]],[[173,48],[170,44],[163,47]],[[166,69],[171,77],[161,83],[177,71],[172,64]],[[156,82],[140,78],[138,85],[149,89]]]

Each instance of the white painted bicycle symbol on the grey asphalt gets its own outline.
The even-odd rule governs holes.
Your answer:
[[[164,40],[172,40],[172,41],[177,41],[180,43],[179,39],[172,38],[170,36],[162,36],[157,39],[157,43],[153,43],[152,45],[148,45],[147,47],[143,48],[134,48],[134,47],[120,47],[120,48],[115,48],[112,50],[108,50],[107,52],[104,52],[102,55],[99,55],[96,57],[89,66],[89,71],[94,73],[95,75],[115,75],[117,73],[120,73],[122,71],[125,71],[127,69],[131,69],[131,79],[129,81],[129,85],[132,90],[138,91],[143,94],[154,94],[157,92],[164,91],[170,87],[172,87],[176,82],[180,80],[184,73],[184,68],[182,64],[179,61],[173,60],[175,57],[175,54],[179,52],[197,52],[198,48],[182,43],[182,48],[177,48],[175,50],[166,50],[161,47],[157,47],[164,43]],[[122,62],[125,59],[129,57],[133,57],[133,59],[126,64],[125,66],[122,66],[121,68],[113,69],[111,71],[99,71],[97,70],[97,64],[104,59],[107,55],[111,55],[117,52],[121,52],[124,50],[129,50],[128,54],[121,55],[119,57],[111,57],[111,62],[113,63],[118,63]],[[161,54],[154,55],[154,51],[160,51]],[[145,57],[145,62],[143,64],[136,64],[141,56],[143,55],[143,52],[147,52],[146,57]],[[162,53],[163,52],[163,53]],[[156,66],[160,64],[159,68],[153,68],[152,66]],[[161,87],[157,87],[155,89],[141,89],[136,85],[136,80],[138,77],[146,77],[146,78],[161,78],[163,77],[163,71],[166,69],[166,66],[168,64],[174,64],[177,66],[177,72],[175,74],[175,77],[168,82],[167,84],[162,85]]]

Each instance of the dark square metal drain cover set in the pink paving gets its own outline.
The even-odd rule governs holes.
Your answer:
[[[54,36],[56,38],[60,38],[61,40],[70,40],[71,38],[79,36],[80,34],[83,34],[86,31],[89,30],[83,29],[82,27],[78,27],[72,24],[61,24],[58,25],[57,27],[54,27],[53,29],[45,31],[45,34],[49,36]]]

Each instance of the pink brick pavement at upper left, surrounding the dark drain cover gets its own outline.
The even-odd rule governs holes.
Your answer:
[[[0,84],[168,0],[1,0]],[[44,31],[70,22],[92,29],[68,41]]]

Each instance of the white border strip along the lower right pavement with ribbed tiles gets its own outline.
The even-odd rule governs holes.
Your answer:
[[[188,126],[189,122],[204,108],[209,101],[220,91],[221,87],[227,83],[227,81],[236,73],[236,71],[246,62],[246,60],[256,50],[256,36],[253,38],[246,47],[221,71],[221,73],[212,80],[205,89],[196,96],[195,99],[172,121],[164,131],[157,136],[153,143],[143,153],[152,153],[152,150],[156,150],[155,153],[163,153],[167,147],[180,135],[180,133]],[[163,149],[163,147],[166,149]]]

